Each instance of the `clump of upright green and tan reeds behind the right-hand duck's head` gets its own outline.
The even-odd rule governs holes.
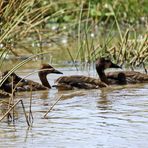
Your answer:
[[[104,37],[98,36],[95,39],[91,38],[90,28],[93,26],[87,25],[88,22],[85,22],[85,24],[82,22],[80,23],[81,26],[85,27],[81,30],[81,33],[78,31],[79,48],[75,59],[79,59],[81,62],[91,62],[95,61],[97,57],[104,56],[110,57],[112,60],[115,60],[121,65],[131,67],[132,69],[134,69],[134,67],[143,66],[145,71],[147,71],[147,31],[142,34],[141,39],[139,39],[139,34],[137,34],[134,29],[131,29],[130,27],[126,30],[122,29],[119,21],[117,20],[117,14],[115,14],[113,9],[111,9],[111,11],[114,16],[114,22],[112,23],[109,32],[105,34]],[[114,35],[115,30],[117,30],[117,33]],[[105,38],[104,41],[101,41],[102,38]],[[98,41],[96,41],[96,39]]]

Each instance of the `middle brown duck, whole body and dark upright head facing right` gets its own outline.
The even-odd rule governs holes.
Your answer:
[[[109,84],[109,81],[104,73],[104,70],[107,68],[120,68],[120,66],[112,63],[111,60],[100,58],[96,61],[96,71],[101,81],[99,79],[86,76],[62,76],[56,80],[57,85],[54,86],[59,90],[70,90],[73,88],[95,89],[99,87],[106,87]],[[122,79],[122,77],[120,79]]]

